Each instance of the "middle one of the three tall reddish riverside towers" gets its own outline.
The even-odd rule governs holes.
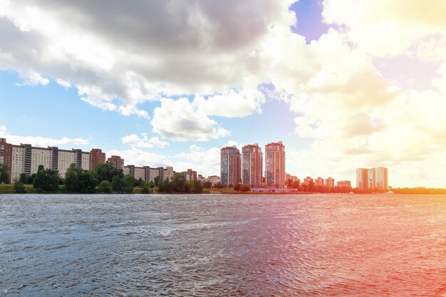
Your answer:
[[[263,154],[258,144],[242,147],[242,180],[251,187],[260,187],[263,172]]]

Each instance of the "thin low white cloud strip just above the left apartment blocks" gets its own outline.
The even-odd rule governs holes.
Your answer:
[[[31,144],[36,147],[53,147],[59,145],[88,145],[88,140],[84,138],[68,138],[62,137],[60,139],[47,138],[47,137],[35,137],[35,136],[19,136],[12,135],[6,129],[6,126],[0,126],[0,137],[6,138],[6,141],[14,145],[21,143]]]

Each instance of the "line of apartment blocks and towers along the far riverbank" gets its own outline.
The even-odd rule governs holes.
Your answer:
[[[125,164],[125,160],[118,156],[108,157],[100,148],[92,148],[89,152],[81,149],[66,150],[61,147],[36,147],[30,144],[9,143],[5,138],[0,138],[0,162],[5,163],[8,168],[9,182],[19,179],[22,173],[30,177],[38,171],[38,167],[43,166],[46,169],[57,170],[61,178],[65,177],[66,170],[71,164],[83,170],[95,171],[99,164],[111,164],[113,167],[123,170],[124,174],[130,174],[135,179],[143,179],[146,182],[153,182],[155,177],[161,179],[171,179],[175,172],[185,174],[187,180],[210,180],[212,184],[222,182],[224,186],[244,183],[251,187],[276,187],[283,188],[287,182],[296,182],[300,179],[286,172],[285,164],[285,146],[281,141],[269,142],[265,145],[265,163],[269,163],[269,169],[263,171],[263,153],[257,143],[254,145],[244,145],[242,153],[237,146],[223,147],[220,150],[220,176],[209,175],[207,178],[203,174],[188,168],[183,171],[175,171],[172,166],[153,167],[150,165],[132,165]],[[378,167],[382,168],[382,167]],[[360,169],[358,169],[360,170]],[[357,172],[358,172],[357,170]],[[375,168],[373,168],[375,170]],[[385,168],[385,177],[388,177],[387,168]],[[263,175],[264,174],[264,175]],[[382,176],[382,174],[376,174]],[[358,173],[357,173],[358,177]],[[322,182],[318,183],[321,179]],[[303,183],[313,179],[306,177]],[[350,187],[351,181],[338,181],[337,186]],[[379,182],[376,182],[377,184]],[[315,186],[335,187],[335,179],[328,177],[325,184],[321,177],[314,179]],[[387,184],[387,181],[386,181]]]

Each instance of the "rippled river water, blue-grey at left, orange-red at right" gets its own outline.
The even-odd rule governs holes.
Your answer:
[[[0,195],[0,296],[446,296],[446,197]]]

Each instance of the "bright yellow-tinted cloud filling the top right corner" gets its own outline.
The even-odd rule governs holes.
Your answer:
[[[442,0],[326,0],[323,19],[344,26],[353,43],[374,56],[398,56],[426,36],[444,35]]]

